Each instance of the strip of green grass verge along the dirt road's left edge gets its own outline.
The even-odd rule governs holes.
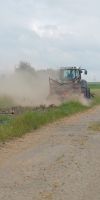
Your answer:
[[[82,112],[87,107],[78,102],[62,104],[57,108],[48,109],[46,112],[27,112],[11,119],[9,123],[0,126],[0,141],[6,141],[29,133],[41,126],[54,122],[65,116]]]

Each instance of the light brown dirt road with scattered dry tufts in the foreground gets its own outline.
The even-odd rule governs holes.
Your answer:
[[[0,200],[100,200],[100,107],[0,146]]]

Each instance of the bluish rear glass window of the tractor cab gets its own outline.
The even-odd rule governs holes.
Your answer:
[[[76,73],[75,70],[67,69],[64,70],[64,79],[72,80],[75,79]]]

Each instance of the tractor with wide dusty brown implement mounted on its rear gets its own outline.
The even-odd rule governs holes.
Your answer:
[[[49,78],[50,96],[57,95],[60,100],[66,99],[70,95],[81,95],[90,99],[90,88],[87,81],[81,75],[87,75],[87,70],[77,67],[64,67],[58,72],[59,79]]]

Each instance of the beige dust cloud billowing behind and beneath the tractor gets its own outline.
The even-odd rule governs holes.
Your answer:
[[[16,106],[61,104],[56,94],[48,98],[50,94],[49,77],[58,79],[58,71],[51,69],[35,71],[30,66],[28,70],[26,69],[27,65],[24,70],[15,70],[12,74],[0,75],[0,97],[10,98]],[[70,93],[64,101],[72,100],[79,101],[86,106],[90,105],[82,94]]]

